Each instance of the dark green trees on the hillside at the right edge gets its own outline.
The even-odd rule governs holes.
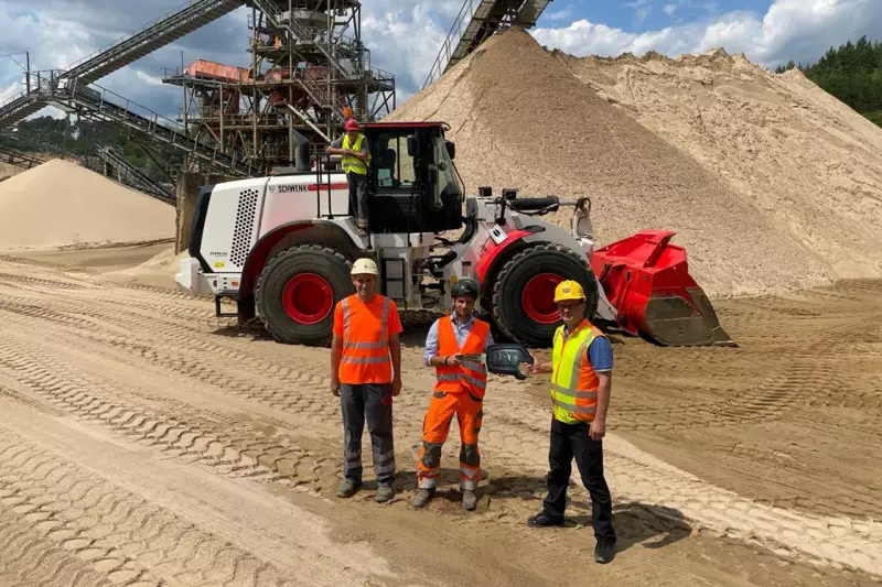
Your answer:
[[[882,43],[861,36],[830,47],[815,64],[789,62],[775,73],[797,68],[825,91],[882,127]]]

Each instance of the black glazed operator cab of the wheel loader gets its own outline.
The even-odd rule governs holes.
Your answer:
[[[464,189],[455,145],[440,122],[365,124],[372,232],[443,232],[462,227]]]

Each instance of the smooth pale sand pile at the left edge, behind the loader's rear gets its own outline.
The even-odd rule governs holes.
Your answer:
[[[0,183],[0,250],[174,238],[172,206],[62,160]]]

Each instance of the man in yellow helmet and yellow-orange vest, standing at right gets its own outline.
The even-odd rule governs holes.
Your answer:
[[[603,436],[612,391],[613,351],[610,341],[585,317],[584,289],[564,281],[555,291],[563,319],[555,333],[552,360],[534,361],[533,373],[551,374],[551,442],[548,453],[548,496],[530,526],[563,525],[567,486],[572,460],[591,496],[591,522],[596,546],[594,559],[613,558],[616,535],[612,524],[612,497],[603,475]]]

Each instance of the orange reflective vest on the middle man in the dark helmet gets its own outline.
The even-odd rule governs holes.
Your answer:
[[[490,334],[490,324],[477,318],[472,323],[469,336],[465,337],[462,348],[456,341],[453,330],[452,316],[438,320],[438,354],[447,355],[475,355],[484,352],[484,345]],[[487,389],[487,368],[484,363],[460,360],[459,366],[435,367],[438,380],[434,391],[442,393],[456,393],[466,391],[477,399],[484,396]]]

